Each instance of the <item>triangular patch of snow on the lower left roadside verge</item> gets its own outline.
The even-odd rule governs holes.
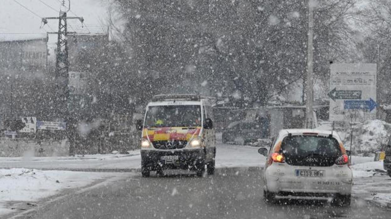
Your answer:
[[[124,174],[122,174],[124,175]],[[120,176],[119,173],[91,173],[26,168],[0,169],[0,215],[15,212],[17,203],[34,202],[61,190],[88,186],[94,181]]]

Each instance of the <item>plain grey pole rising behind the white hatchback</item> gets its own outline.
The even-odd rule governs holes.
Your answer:
[[[308,0],[308,44],[307,44],[307,101],[306,101],[306,119],[305,127],[308,129],[314,128],[313,114],[314,114],[314,5],[311,0]]]

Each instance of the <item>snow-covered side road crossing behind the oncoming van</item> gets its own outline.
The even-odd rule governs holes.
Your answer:
[[[258,147],[217,144],[216,167],[260,167],[265,157]],[[74,157],[0,157],[0,168],[36,168],[55,170],[140,169],[140,150],[129,154],[94,154]]]

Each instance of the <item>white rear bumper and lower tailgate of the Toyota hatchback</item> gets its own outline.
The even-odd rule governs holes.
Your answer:
[[[312,167],[325,171],[323,177],[299,177],[296,169],[308,167],[271,165],[265,170],[266,187],[269,192],[280,194],[309,194],[312,197],[328,197],[327,194],[350,194],[352,192],[352,170],[346,165],[339,167]],[[320,195],[317,195],[320,194]],[[294,196],[291,194],[291,196]],[[303,197],[306,197],[305,195]]]

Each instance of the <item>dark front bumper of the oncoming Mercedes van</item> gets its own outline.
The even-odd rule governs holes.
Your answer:
[[[178,156],[177,160],[162,160],[162,156]],[[158,169],[190,169],[205,164],[203,148],[191,150],[141,150],[141,165],[150,170]]]

